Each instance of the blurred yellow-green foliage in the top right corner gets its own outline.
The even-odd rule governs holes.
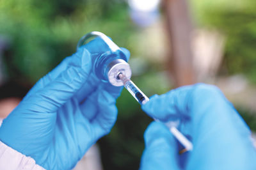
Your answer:
[[[243,73],[256,83],[256,1],[195,0],[192,7],[199,27],[218,29],[227,38],[225,72]]]

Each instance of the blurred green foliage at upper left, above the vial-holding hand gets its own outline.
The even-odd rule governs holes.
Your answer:
[[[3,0],[0,35],[10,42],[4,56],[10,79],[34,83],[74,53],[79,38],[90,31],[102,31],[126,46],[128,21],[125,4],[115,0]]]

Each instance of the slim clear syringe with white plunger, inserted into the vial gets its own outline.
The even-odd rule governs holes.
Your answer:
[[[131,95],[141,104],[144,105],[149,101],[149,98],[132,82],[130,79],[125,77],[123,73],[118,74],[118,79],[120,79],[124,87],[131,93]],[[154,119],[155,121],[159,121]],[[184,149],[179,151],[179,153],[184,153],[186,151],[193,149],[193,144],[179,132],[179,130],[172,125],[172,123],[164,123],[170,130],[170,132],[176,137],[176,139],[184,146]]]

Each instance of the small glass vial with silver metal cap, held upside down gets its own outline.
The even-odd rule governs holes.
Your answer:
[[[91,54],[93,73],[102,81],[110,82],[114,86],[122,86],[122,82],[116,82],[114,78],[118,72],[131,77],[131,68],[127,63],[124,52],[108,36],[98,31],[84,35],[77,43],[77,50],[83,48],[89,39],[101,38],[104,43],[104,52]],[[115,74],[115,75],[113,75]]]

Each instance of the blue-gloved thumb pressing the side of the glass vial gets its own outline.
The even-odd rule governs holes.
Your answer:
[[[40,112],[54,112],[75,95],[87,81],[92,69],[90,53],[86,49],[83,51],[86,54],[73,58],[72,64],[67,70],[29,97],[28,102],[32,103],[31,109]],[[88,57],[84,58],[83,56]],[[40,101],[40,104],[33,104],[37,101]]]

